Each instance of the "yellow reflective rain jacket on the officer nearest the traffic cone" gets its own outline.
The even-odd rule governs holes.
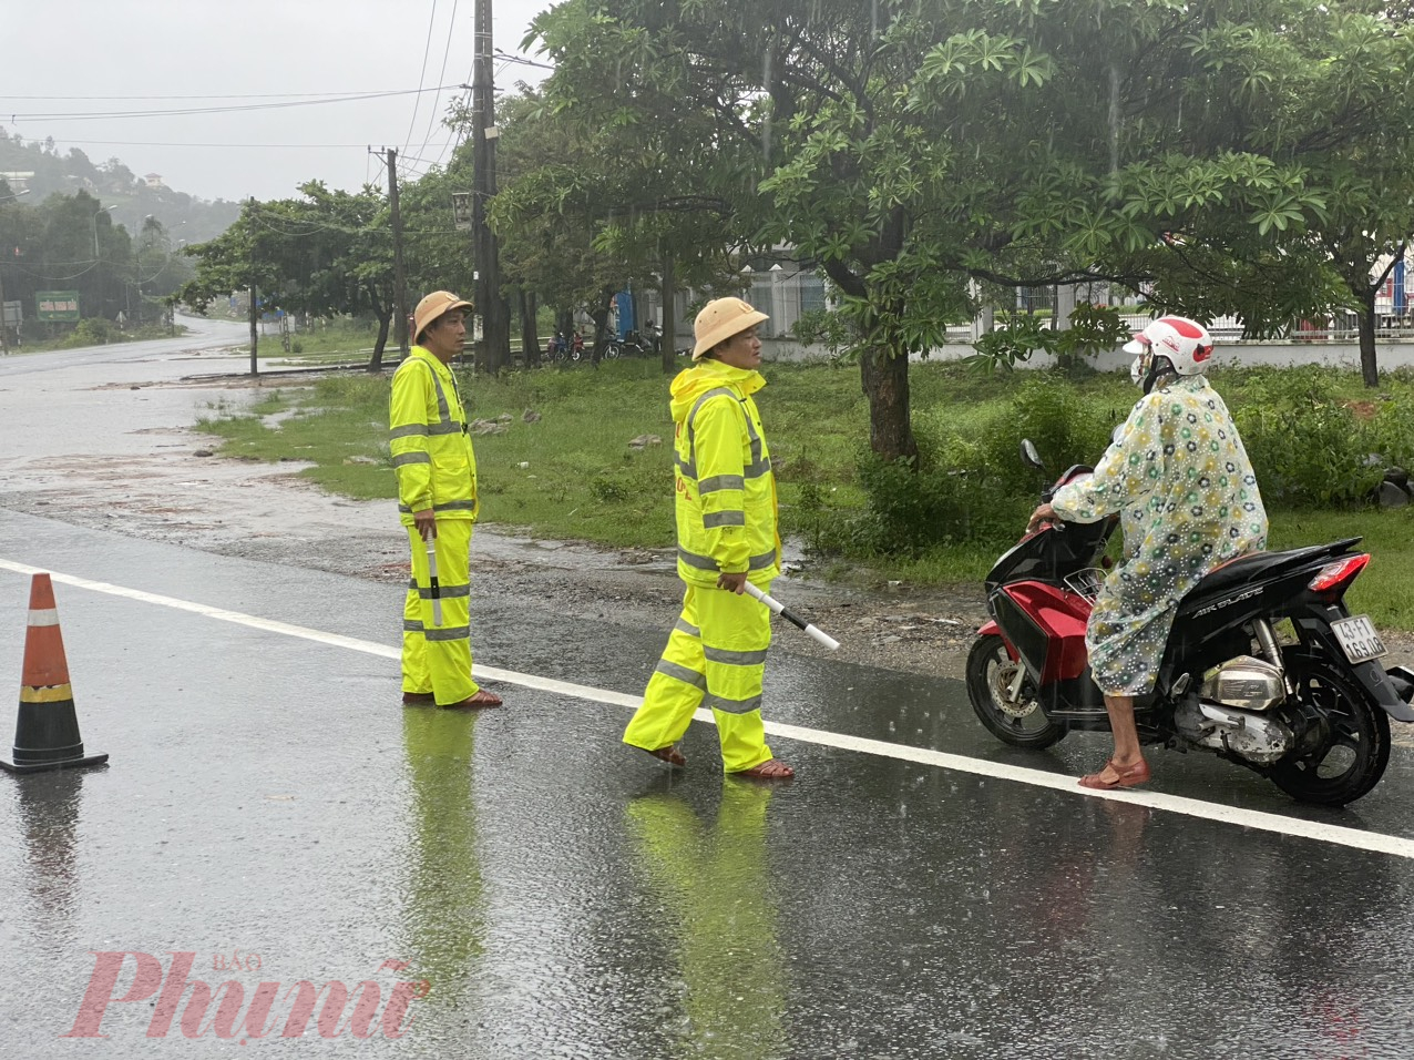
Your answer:
[[[475,519],[477,454],[457,379],[420,345],[393,372],[387,426],[403,525],[424,508],[438,519]]]

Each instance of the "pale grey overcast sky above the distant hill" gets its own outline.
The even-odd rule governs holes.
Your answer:
[[[493,0],[493,48],[519,54],[530,20],[550,6]],[[464,93],[413,92],[471,83],[474,10],[475,0],[0,0],[0,127],[25,140],[52,136],[62,154],[79,147],[95,163],[117,157],[137,175],[161,174],[206,200],[291,197],[310,178],[383,185],[386,164],[369,146],[399,149],[403,178],[414,178],[450,156],[452,134],[440,122]],[[502,91],[546,75],[495,62]],[[375,92],[407,95],[62,116]]]

